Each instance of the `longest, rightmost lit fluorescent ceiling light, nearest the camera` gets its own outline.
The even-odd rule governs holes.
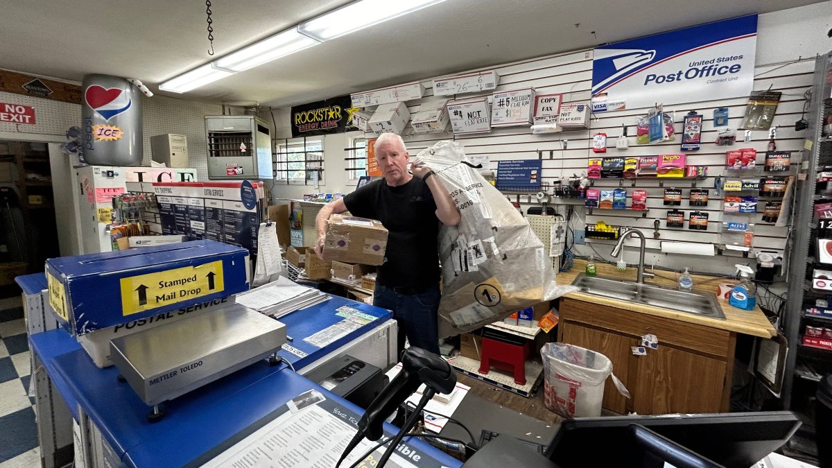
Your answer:
[[[444,0],[360,0],[298,25],[298,32],[320,42],[415,12]]]

